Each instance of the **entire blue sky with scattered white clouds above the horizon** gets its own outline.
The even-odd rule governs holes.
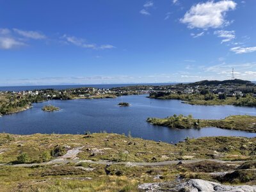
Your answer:
[[[255,0],[0,0],[0,86],[256,80]]]

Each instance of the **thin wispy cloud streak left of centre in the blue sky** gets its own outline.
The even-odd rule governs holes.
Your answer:
[[[87,44],[86,40],[83,38],[77,38],[76,36],[67,36],[63,35],[61,38],[65,40],[67,44],[73,44],[79,47],[83,48],[89,48],[89,49],[113,49],[115,46],[113,45],[96,45],[96,44]]]

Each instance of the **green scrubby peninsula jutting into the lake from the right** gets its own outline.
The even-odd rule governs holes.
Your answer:
[[[195,119],[192,115],[173,115],[167,118],[148,118],[147,122],[153,125],[179,129],[219,127],[222,129],[256,132],[256,116],[250,115],[232,115],[220,120]]]

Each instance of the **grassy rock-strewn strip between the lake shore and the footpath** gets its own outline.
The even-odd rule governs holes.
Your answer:
[[[206,137],[188,139],[172,145],[108,133],[0,134],[0,150],[3,150],[0,154],[0,163],[15,162],[23,153],[27,154],[27,163],[41,163],[58,157],[55,156],[56,148],[60,148],[61,154],[65,154],[68,147],[82,146],[84,147],[78,157],[92,161],[155,162],[212,158],[236,160],[256,157],[256,138]]]

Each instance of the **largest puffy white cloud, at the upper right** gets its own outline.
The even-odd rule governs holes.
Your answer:
[[[235,8],[236,3],[230,0],[222,0],[216,3],[214,1],[198,3],[185,13],[180,22],[188,24],[189,28],[220,28],[230,23],[225,20],[225,15],[226,12]]]

